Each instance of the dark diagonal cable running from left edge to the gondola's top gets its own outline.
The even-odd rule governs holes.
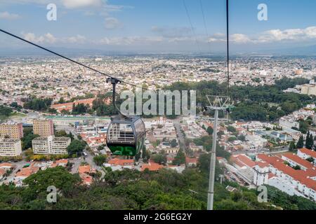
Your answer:
[[[16,36],[16,35],[14,35],[14,34],[11,34],[11,33],[8,32],[8,31],[5,31],[5,30],[3,30],[3,29],[0,29],[0,31],[3,32],[4,34],[8,34],[9,36],[13,36],[14,38],[18,38],[18,39],[21,40],[21,41],[24,41],[24,42],[26,42],[26,43],[29,43],[29,44],[31,44],[31,45],[34,45],[34,46],[36,46],[37,48],[41,48],[42,50],[46,50],[47,52],[50,52],[50,53],[52,53],[53,55],[57,55],[58,57],[62,57],[63,59],[66,59],[66,60],[68,60],[68,61],[70,61],[70,62],[73,62],[74,64],[79,64],[79,65],[81,65],[81,66],[84,66],[86,69],[90,69],[91,71],[95,71],[95,72],[97,72],[97,73],[100,73],[100,74],[102,74],[103,76],[107,76],[107,77],[111,78],[112,80],[117,80],[119,83],[125,83],[125,84],[131,85],[131,86],[133,86],[133,87],[138,87],[138,85],[135,85],[135,84],[133,84],[133,83],[128,83],[128,82],[126,82],[126,81],[124,81],[124,80],[120,80],[119,78],[115,78],[115,77],[110,76],[110,75],[108,75],[108,74],[106,74],[106,73],[103,73],[102,71],[98,71],[97,69],[93,69],[93,68],[91,68],[90,66],[87,66],[86,64],[82,64],[82,63],[80,63],[80,62],[75,61],[74,59],[71,59],[71,58],[66,57],[66,56],[64,56],[64,55],[60,55],[59,53],[54,52],[53,50],[49,50],[49,49],[44,48],[44,47],[42,47],[42,46],[40,46],[40,45],[37,45],[36,43],[33,43],[33,42],[31,42],[31,41],[27,41],[27,40],[25,40],[25,38],[22,38],[22,37],[20,37],[20,36]],[[148,89],[143,88],[143,87],[141,87],[141,89],[142,89],[142,90],[148,90]]]

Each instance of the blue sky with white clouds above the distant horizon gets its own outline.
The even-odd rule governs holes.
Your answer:
[[[48,3],[57,6],[56,21],[46,19]],[[268,6],[268,21],[258,20],[259,3]],[[185,0],[185,5],[188,15],[183,0],[4,0],[0,3],[0,27],[49,47],[225,50],[225,0]],[[310,0],[230,0],[232,50],[260,52],[314,45],[315,11],[316,1]],[[1,46],[26,45],[0,34]]]

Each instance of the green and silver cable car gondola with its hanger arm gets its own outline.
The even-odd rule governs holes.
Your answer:
[[[120,83],[117,78],[108,78],[107,83],[113,85],[113,105],[115,104],[115,85]],[[117,109],[119,111],[119,109]],[[135,156],[144,146],[146,137],[145,124],[139,116],[119,115],[111,118],[107,129],[107,147],[113,155]]]

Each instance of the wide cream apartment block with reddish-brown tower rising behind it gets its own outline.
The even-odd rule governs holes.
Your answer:
[[[32,140],[34,154],[67,154],[71,139],[68,137],[37,137]]]

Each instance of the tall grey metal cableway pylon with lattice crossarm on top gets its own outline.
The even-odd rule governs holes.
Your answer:
[[[206,110],[215,111],[214,127],[213,127],[213,145],[211,151],[211,162],[209,166],[209,192],[207,195],[207,210],[213,210],[214,200],[214,182],[215,182],[215,165],[216,165],[216,144],[217,144],[217,127],[218,127],[218,111],[227,111],[229,97],[223,96],[206,96],[211,106],[207,106]]]

